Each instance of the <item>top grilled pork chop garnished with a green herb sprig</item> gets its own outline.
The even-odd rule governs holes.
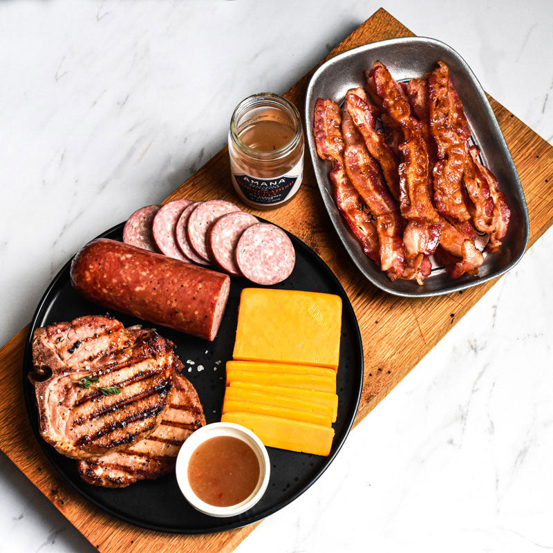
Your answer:
[[[158,427],[177,357],[153,330],[91,315],[37,328],[32,359],[42,437],[84,459],[129,447]]]

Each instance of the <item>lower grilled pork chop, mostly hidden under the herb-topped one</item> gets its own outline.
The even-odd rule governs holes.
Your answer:
[[[173,471],[182,442],[205,425],[202,405],[194,386],[180,375],[177,360],[168,409],[159,427],[140,442],[122,451],[77,461],[77,471],[88,482],[110,488],[125,487],[138,480],[153,480]]]

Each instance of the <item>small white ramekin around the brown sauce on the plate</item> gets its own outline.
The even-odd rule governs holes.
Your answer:
[[[259,461],[259,480],[254,491],[252,491],[250,496],[245,498],[241,503],[230,505],[229,507],[216,507],[215,505],[205,503],[205,501],[194,494],[188,481],[188,463],[192,453],[194,453],[196,448],[201,443],[205,442],[205,440],[216,438],[216,436],[232,436],[232,438],[238,438],[238,440],[246,442],[252,448]],[[214,422],[213,424],[207,424],[207,426],[196,430],[187,438],[185,443],[182,444],[178,452],[176,464],[178,487],[180,487],[180,491],[182,491],[188,503],[190,503],[194,509],[204,514],[219,517],[241,514],[253,507],[261,499],[261,496],[263,496],[267,489],[270,471],[271,465],[267,449],[265,449],[261,440],[251,430],[242,427],[240,424],[234,424],[233,422]]]

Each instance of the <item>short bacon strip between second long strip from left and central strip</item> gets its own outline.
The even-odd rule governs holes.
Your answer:
[[[397,159],[384,141],[384,135],[375,129],[375,117],[378,110],[367,100],[363,88],[353,88],[346,94],[346,109],[359,133],[362,134],[368,153],[377,160],[386,185],[396,200],[400,199]]]

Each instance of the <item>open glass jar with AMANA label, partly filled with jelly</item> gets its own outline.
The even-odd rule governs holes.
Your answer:
[[[236,194],[256,209],[288,202],[303,177],[303,131],[296,106],[272,93],[240,102],[230,120],[229,156]]]

